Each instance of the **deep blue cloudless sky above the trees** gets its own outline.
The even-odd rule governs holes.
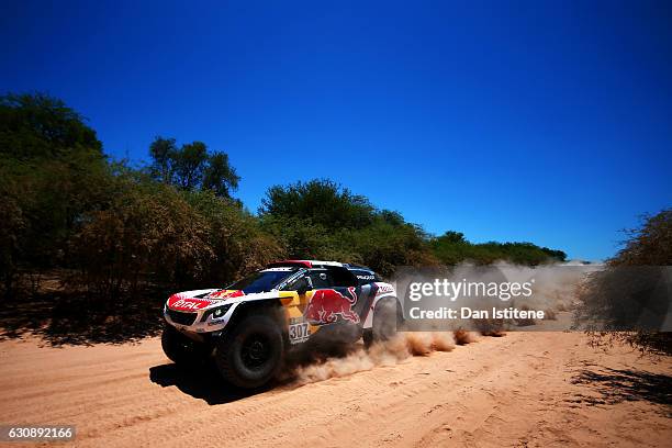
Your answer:
[[[64,99],[117,158],[224,150],[253,211],[328,177],[435,234],[601,259],[672,205],[669,1],[2,9],[1,91]]]

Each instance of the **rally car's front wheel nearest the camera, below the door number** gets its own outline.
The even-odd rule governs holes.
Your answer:
[[[215,363],[229,383],[258,388],[276,376],[283,351],[278,322],[270,315],[250,315],[217,341]]]

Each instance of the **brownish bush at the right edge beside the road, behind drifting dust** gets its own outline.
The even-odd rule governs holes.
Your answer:
[[[641,351],[672,354],[672,333],[659,331],[670,306],[672,210],[643,216],[628,235],[606,269],[581,288],[575,323],[587,327],[595,346],[626,343]]]

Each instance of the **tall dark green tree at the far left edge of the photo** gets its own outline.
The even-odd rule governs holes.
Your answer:
[[[43,93],[0,97],[0,237],[5,287],[20,267],[67,262],[86,210],[101,206],[110,179],[102,144],[85,119]]]

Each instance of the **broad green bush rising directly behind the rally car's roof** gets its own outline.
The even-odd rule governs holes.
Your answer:
[[[419,226],[329,180],[272,187],[259,214],[291,258],[363,264],[382,276],[397,266],[437,262]]]

